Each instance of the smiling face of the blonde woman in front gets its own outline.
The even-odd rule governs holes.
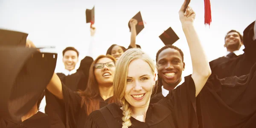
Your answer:
[[[128,66],[124,97],[132,107],[143,108],[149,105],[153,85],[155,84],[154,75],[147,62],[142,59],[131,61]]]

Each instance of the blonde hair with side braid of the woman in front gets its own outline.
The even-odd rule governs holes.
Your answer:
[[[128,128],[131,126],[131,107],[125,100],[125,89],[127,83],[128,66],[131,61],[136,59],[142,59],[147,62],[151,67],[151,71],[155,73],[154,61],[146,55],[141,49],[132,48],[125,51],[116,64],[115,77],[113,79],[114,96],[117,103],[122,105],[123,117],[122,128]]]

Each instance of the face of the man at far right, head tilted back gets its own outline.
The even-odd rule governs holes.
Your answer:
[[[237,32],[230,32],[225,37],[225,44],[224,47],[227,47],[227,50],[233,49],[233,50],[239,50],[242,46],[242,41]]]

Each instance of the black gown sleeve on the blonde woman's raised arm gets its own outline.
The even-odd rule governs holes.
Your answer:
[[[159,102],[172,111],[177,128],[197,128],[195,83],[191,75],[185,77],[183,84],[169,92]]]

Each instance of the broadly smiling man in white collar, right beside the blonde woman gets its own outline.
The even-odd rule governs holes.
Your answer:
[[[151,98],[151,103],[160,101],[169,94],[169,90],[175,89],[184,82],[182,78],[182,72],[185,70],[183,56],[181,49],[173,45],[166,45],[157,52],[157,94]]]

